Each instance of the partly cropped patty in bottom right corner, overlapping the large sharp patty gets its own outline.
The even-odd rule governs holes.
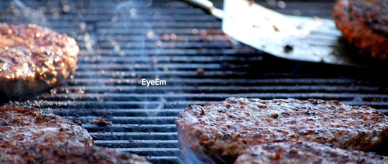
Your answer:
[[[314,142],[273,142],[250,147],[234,164],[386,164],[388,157]]]

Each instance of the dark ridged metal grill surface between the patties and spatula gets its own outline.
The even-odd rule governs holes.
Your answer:
[[[331,19],[332,1],[257,1],[285,14]],[[271,5],[273,4],[273,5]],[[215,5],[222,7],[222,1]],[[381,68],[278,59],[223,35],[221,21],[180,1],[1,1],[0,21],[68,33],[81,48],[78,70],[24,102],[80,120],[95,145],[180,163],[175,119],[189,104],[228,97],[318,98],[388,113]],[[145,87],[141,79],[166,80]],[[103,118],[112,125],[90,124]]]

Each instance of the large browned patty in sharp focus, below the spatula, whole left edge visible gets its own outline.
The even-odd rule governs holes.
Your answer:
[[[208,107],[191,105],[175,123],[183,155],[192,151],[227,162],[260,143],[310,141],[369,150],[388,136],[388,119],[377,110],[314,99],[230,97]]]

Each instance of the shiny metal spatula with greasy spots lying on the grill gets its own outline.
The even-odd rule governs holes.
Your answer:
[[[369,65],[338,41],[330,19],[289,16],[247,0],[224,0],[223,10],[208,0],[184,0],[222,19],[222,31],[237,41],[277,57],[348,66]]]

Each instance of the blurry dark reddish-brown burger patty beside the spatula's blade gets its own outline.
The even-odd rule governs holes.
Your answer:
[[[388,59],[388,2],[386,0],[339,0],[334,5],[336,26],[360,53]]]

